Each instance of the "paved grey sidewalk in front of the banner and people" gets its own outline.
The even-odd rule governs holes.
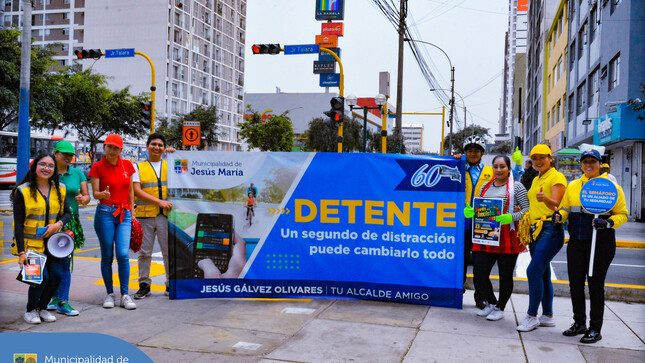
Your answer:
[[[475,315],[471,290],[462,310],[346,300],[169,300],[153,292],[127,311],[101,307],[99,261],[79,257],[70,296],[81,314],[29,325],[22,320],[27,289],[15,280],[17,271],[15,262],[0,264],[0,331],[103,333],[155,362],[645,361],[643,304],[607,301],[603,339],[591,345],[561,334],[573,322],[569,298],[555,298],[556,327],[518,333],[527,295],[514,294],[504,319],[491,322]]]

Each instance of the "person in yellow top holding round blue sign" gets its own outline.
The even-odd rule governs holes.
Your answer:
[[[580,164],[584,175],[569,185],[564,198],[562,198],[560,209],[553,213],[553,220],[556,223],[569,220],[567,271],[574,323],[562,334],[565,336],[584,334],[580,339],[582,343],[595,343],[602,339],[600,329],[605,311],[605,276],[607,276],[607,270],[616,254],[616,232],[614,229],[627,222],[629,214],[623,189],[613,183],[606,173],[600,174],[600,163],[600,153],[597,150],[588,150],[582,153]],[[606,180],[604,184],[607,184],[605,186],[602,183],[604,180]],[[594,183],[594,181],[597,182]],[[597,184],[597,187],[594,188],[592,183]],[[589,194],[587,188],[595,193]],[[583,193],[600,196],[597,197],[597,201],[600,202],[600,208],[604,210],[587,210],[592,208],[586,205],[584,199],[593,198],[585,197]],[[606,207],[603,208],[603,204],[606,204]],[[592,214],[603,211],[606,213],[596,216]],[[594,230],[596,241],[593,241]],[[594,242],[596,242],[595,250],[592,253]],[[590,258],[594,259],[591,272],[589,271]],[[585,314],[585,279],[589,282],[591,303],[591,319],[588,330]]]

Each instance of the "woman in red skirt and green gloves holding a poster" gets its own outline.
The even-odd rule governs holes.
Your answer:
[[[517,256],[524,250],[517,238],[517,221],[529,210],[529,200],[526,189],[520,182],[509,178],[511,173],[511,161],[508,156],[498,155],[493,159],[493,174],[495,179],[486,183],[477,194],[482,198],[500,198],[503,200],[503,209],[494,220],[501,224],[499,241],[495,244],[480,243],[480,240],[473,237],[473,283],[475,290],[481,291],[488,302],[477,315],[486,317],[488,320],[500,320],[504,318],[504,308],[513,293],[513,271]],[[476,198],[475,200],[479,200]],[[488,199],[490,200],[490,199]],[[512,212],[515,206],[519,206],[518,212]],[[469,205],[464,210],[467,218],[475,218],[478,224],[477,207],[473,209]],[[469,217],[470,216],[470,217]],[[475,230],[477,230],[475,226]],[[495,297],[493,285],[490,282],[490,271],[497,262],[499,269],[499,299]]]

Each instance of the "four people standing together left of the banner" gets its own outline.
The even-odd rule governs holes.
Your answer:
[[[138,256],[139,290],[134,299],[150,295],[150,265],[155,238],[159,241],[164,264],[168,266],[167,216],[172,203],[167,200],[168,167],[162,160],[166,140],[161,134],[151,134],[146,142],[148,159],[135,165],[121,158],[121,136],[108,135],[103,148],[105,156],[92,165],[89,173],[92,195],[99,201],[94,229],[101,248],[101,275],[106,288],[103,307],[109,309],[116,304],[112,280],[116,251],[119,305],[132,310],[136,309],[136,304],[129,295],[128,249],[133,222],[138,222],[143,229]],[[84,242],[78,208],[90,202],[90,194],[83,172],[70,166],[75,154],[71,143],[59,141],[53,155],[39,154],[33,159],[27,174],[16,183],[11,193],[15,253],[19,256],[20,267],[28,263],[27,250],[47,256],[42,269],[42,283],[29,287],[24,320],[31,324],[56,321],[50,310],[69,316],[79,315],[68,301],[73,253],[69,257],[56,258],[46,249],[48,238],[61,230],[71,232],[76,248]],[[39,228],[44,228],[44,233],[38,233]],[[168,283],[166,269],[166,294],[169,292]]]

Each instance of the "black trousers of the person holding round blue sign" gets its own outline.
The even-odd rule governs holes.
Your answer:
[[[600,235],[600,233],[598,233]],[[573,305],[573,320],[586,325],[585,279],[589,283],[589,300],[591,304],[589,329],[600,331],[605,313],[605,277],[611,261],[616,254],[615,238],[596,238],[593,276],[589,272],[591,240],[569,239],[567,245],[567,271],[569,273],[569,290]]]

